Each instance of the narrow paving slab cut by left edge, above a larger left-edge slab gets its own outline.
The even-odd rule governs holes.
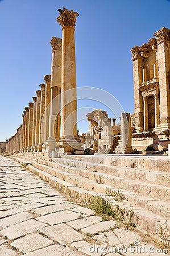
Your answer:
[[[32,217],[33,217],[33,215],[31,213],[28,213],[28,212],[17,213],[13,216],[1,219],[0,220],[0,226],[2,226],[2,228],[5,229],[8,226],[18,224],[19,222],[26,221],[26,220],[28,220]]]

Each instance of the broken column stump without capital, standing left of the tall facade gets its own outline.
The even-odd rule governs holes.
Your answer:
[[[130,113],[121,114],[121,135],[122,135],[122,154],[131,154],[131,117]]]

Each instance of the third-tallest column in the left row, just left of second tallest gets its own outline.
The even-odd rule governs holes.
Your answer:
[[[51,101],[51,75],[44,76],[45,81],[45,116],[44,116],[44,147],[45,142],[49,137],[49,115],[50,115],[50,101]]]

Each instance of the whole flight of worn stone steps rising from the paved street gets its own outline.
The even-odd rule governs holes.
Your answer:
[[[75,155],[52,160],[24,153],[14,159],[78,202],[102,196],[120,208],[133,209],[139,230],[156,238],[170,237],[170,161],[166,156]],[[117,201],[119,193],[125,199]]]

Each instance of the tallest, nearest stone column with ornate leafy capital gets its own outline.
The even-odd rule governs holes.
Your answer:
[[[61,115],[62,137],[59,147],[65,153],[82,150],[77,137],[77,97],[76,97],[76,57],[74,27],[79,14],[63,7],[57,22],[62,26],[62,65],[61,65]]]

